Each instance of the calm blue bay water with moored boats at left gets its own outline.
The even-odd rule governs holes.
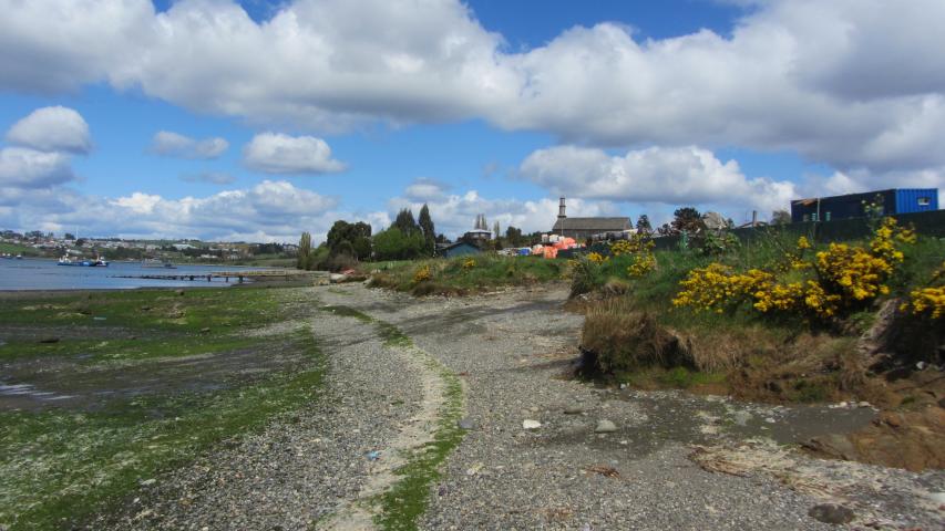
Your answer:
[[[258,271],[267,268],[236,266],[177,266],[177,269],[142,268],[141,262],[112,262],[107,268],[69,268],[55,260],[0,259],[0,291],[7,290],[129,290],[134,288],[177,288],[228,285],[224,279],[174,281],[120,279],[142,274],[204,274],[213,271]],[[235,280],[235,279],[230,279]]]

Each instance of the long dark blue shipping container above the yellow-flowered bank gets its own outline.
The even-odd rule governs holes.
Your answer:
[[[862,218],[866,216],[869,205],[876,205],[882,215],[938,210],[938,189],[892,188],[845,196],[798,199],[791,201],[791,221],[800,223]]]

